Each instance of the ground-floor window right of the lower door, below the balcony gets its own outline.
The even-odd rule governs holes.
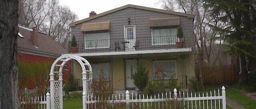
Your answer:
[[[177,79],[176,61],[164,60],[154,61],[154,80],[158,79]]]

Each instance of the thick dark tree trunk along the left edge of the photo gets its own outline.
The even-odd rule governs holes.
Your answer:
[[[17,72],[18,0],[0,0],[0,109],[19,108]]]

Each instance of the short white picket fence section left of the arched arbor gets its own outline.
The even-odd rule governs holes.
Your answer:
[[[24,95],[20,97],[20,108],[38,108],[38,109],[50,109],[50,93],[45,95],[31,97],[32,95]]]

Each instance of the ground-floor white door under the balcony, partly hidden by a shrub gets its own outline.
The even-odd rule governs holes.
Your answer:
[[[126,60],[126,88],[135,88],[132,74],[136,72],[137,60]]]

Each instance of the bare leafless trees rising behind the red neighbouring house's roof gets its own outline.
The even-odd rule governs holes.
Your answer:
[[[69,24],[77,16],[69,8],[59,5],[56,0],[22,0],[23,25],[37,27],[38,31],[52,36],[54,40],[67,45],[70,37]]]

